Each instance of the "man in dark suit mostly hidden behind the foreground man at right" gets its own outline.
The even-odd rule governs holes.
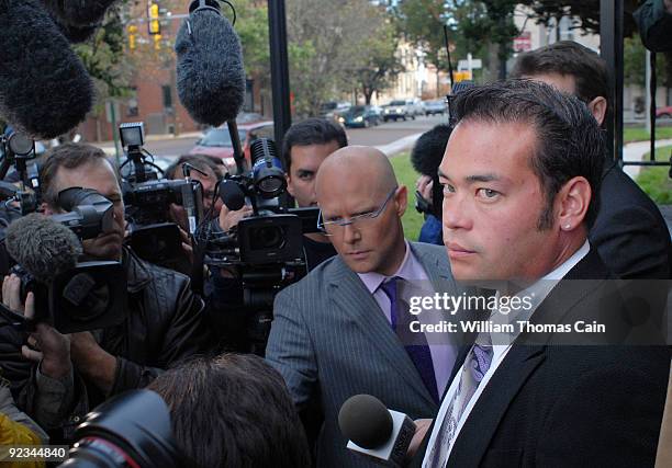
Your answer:
[[[603,125],[608,111],[607,68],[587,47],[561,41],[523,54],[512,76],[575,95]],[[589,239],[604,263],[624,278],[670,278],[670,231],[651,198],[611,159],[604,163],[598,193],[600,208]]]

